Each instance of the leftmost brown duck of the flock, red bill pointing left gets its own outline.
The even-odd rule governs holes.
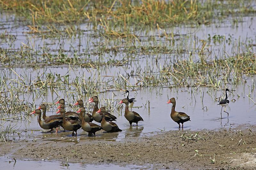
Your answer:
[[[32,112],[30,114],[38,114],[39,126],[43,129],[51,129],[50,132],[53,131],[53,128],[56,128],[56,134],[57,134],[57,132],[58,132],[57,127],[62,122],[62,119],[49,117],[43,121],[43,120],[41,120],[41,110],[40,109],[36,109],[34,112]]]

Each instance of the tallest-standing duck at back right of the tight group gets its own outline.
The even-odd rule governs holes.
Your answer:
[[[95,105],[94,105],[94,108],[93,108],[93,111],[92,111],[92,118],[93,120],[95,120],[96,122],[101,122],[102,120],[102,113],[100,112],[97,112],[99,111],[99,107],[98,107],[98,104],[99,104],[99,98],[97,96],[93,96],[92,98],[90,98],[89,100],[89,103],[92,103],[94,102]],[[116,121],[116,116],[106,112],[106,115],[105,115],[105,119],[107,121]]]

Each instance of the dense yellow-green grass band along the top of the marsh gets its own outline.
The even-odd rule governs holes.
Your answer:
[[[227,14],[255,13],[253,1],[119,1],[119,0],[1,0],[2,10],[15,11],[25,17],[31,31],[40,33],[42,23],[87,22],[99,25],[105,34],[134,36],[131,26],[153,27],[179,23],[208,23]],[[69,36],[73,30],[67,27]],[[51,29],[48,29],[51,31]]]

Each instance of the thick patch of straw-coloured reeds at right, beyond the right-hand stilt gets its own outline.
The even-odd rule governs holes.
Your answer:
[[[172,87],[216,88],[220,87],[223,82],[232,81],[236,84],[241,82],[244,74],[249,76],[255,73],[255,54],[247,52],[234,57],[204,62],[193,61],[191,58],[177,60],[172,65],[161,68],[159,73],[148,71],[143,74],[137,73],[136,76],[140,77],[138,81],[143,82],[143,86],[166,84]]]

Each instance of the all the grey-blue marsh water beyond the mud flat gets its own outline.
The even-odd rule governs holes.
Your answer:
[[[235,22],[237,20],[237,22]],[[80,66],[38,66],[33,68],[28,65],[17,66],[14,67],[10,65],[9,67],[0,66],[0,77],[7,77],[6,84],[10,91],[14,91],[12,99],[18,98],[18,104],[24,103],[29,106],[33,106],[36,104],[38,107],[42,102],[55,103],[59,98],[65,98],[66,103],[73,104],[80,96],[77,94],[77,90],[73,87],[73,89],[61,90],[55,88],[56,91],[51,91],[50,88],[47,91],[44,89],[37,88],[37,91],[28,91],[28,88],[24,88],[25,93],[17,92],[16,87],[22,87],[22,83],[20,84],[20,77],[25,81],[26,85],[31,85],[32,82],[36,82],[37,78],[41,76],[42,73],[52,73],[53,75],[60,74],[60,76],[69,75],[70,80],[76,79],[76,76],[80,76],[83,79],[88,79],[88,77],[92,77],[94,81],[110,81],[112,77],[116,77],[119,74],[126,74],[126,72],[131,72],[133,70],[136,73],[136,68],[141,68],[142,71],[148,72],[149,68],[152,71],[156,71],[159,67],[168,66],[168,63],[171,63],[173,60],[177,58],[188,58],[190,51],[198,51],[201,49],[202,41],[208,41],[207,45],[209,46],[209,51],[206,53],[206,60],[213,58],[223,58],[224,53],[229,56],[233,56],[236,53],[246,52],[244,49],[245,46],[252,45],[250,48],[251,51],[255,50],[253,44],[255,44],[255,27],[256,27],[256,17],[255,16],[245,16],[241,18],[233,18],[228,17],[224,21],[219,21],[216,23],[212,23],[210,25],[200,25],[198,27],[194,26],[179,26],[172,27],[166,29],[167,34],[174,34],[174,43],[172,41],[166,41],[164,36],[159,36],[159,34],[163,34],[163,32],[158,32],[155,30],[143,30],[136,32],[136,35],[140,35],[141,44],[140,46],[152,46],[161,44],[163,47],[167,47],[170,51],[174,50],[172,53],[164,53],[159,52],[159,54],[154,51],[148,51],[148,53],[135,53],[130,56],[130,51],[125,51],[121,46],[121,50],[117,52],[103,52],[101,54],[91,54],[98,46],[106,45],[108,48],[116,46],[116,44],[122,44],[123,40],[113,39],[106,40],[102,37],[92,36],[93,30],[92,26],[88,24],[81,24],[76,27],[79,27],[84,31],[83,34],[78,34],[76,38],[67,38],[67,36],[56,37],[42,37],[42,35],[30,34],[30,30],[26,25],[21,24],[22,21],[17,21],[15,19],[15,15],[12,13],[3,13],[0,17],[0,28],[1,33],[5,35],[13,35],[15,37],[14,40],[8,38],[0,39],[0,47],[3,49],[10,50],[20,50],[21,46],[24,47],[26,44],[32,50],[40,51],[42,48],[45,48],[47,52],[52,54],[58,54],[58,50],[61,48],[65,51],[65,54],[69,57],[73,57],[76,52],[79,57],[84,58],[84,61],[96,61],[102,59],[102,61],[108,61],[110,58],[113,60],[121,60],[123,58],[132,58],[128,64],[124,66],[102,66],[99,69],[94,68],[83,68]],[[61,29],[62,27],[60,27]],[[220,38],[220,40],[213,40],[212,37],[214,35],[224,35],[224,38]],[[211,36],[209,38],[209,36]],[[149,38],[154,37],[154,38]],[[95,44],[93,44],[93,43]],[[103,43],[102,43],[103,42]],[[243,43],[243,45],[241,45]],[[138,45],[137,42],[133,45]],[[179,47],[183,49],[183,52],[175,51],[176,48]],[[152,52],[152,53],[151,53]],[[87,54],[91,54],[88,56]],[[38,57],[39,56],[39,57]],[[40,61],[40,52],[36,56],[36,58]],[[158,59],[158,63],[156,63],[156,56]],[[193,56],[194,57],[194,56]],[[193,58],[193,60],[197,60],[198,56]],[[12,64],[12,62],[10,63]],[[16,75],[14,71],[20,76]],[[159,71],[159,70],[158,70]],[[84,75],[84,77],[83,77]],[[110,77],[108,77],[110,76]],[[97,80],[97,78],[101,78]],[[102,80],[104,79],[104,80]],[[131,91],[130,97],[135,97],[137,102],[134,106],[138,106],[139,108],[133,108],[132,110],[138,112],[144,119],[144,122],[139,122],[139,126],[129,126],[128,121],[124,118],[124,107],[121,110],[117,110],[117,112],[113,112],[116,115],[117,125],[119,128],[123,129],[122,132],[119,133],[98,133],[94,137],[87,137],[86,133],[83,130],[78,130],[78,136],[72,137],[71,132],[62,132],[58,135],[54,133],[42,133],[41,128],[37,123],[37,116],[29,116],[24,112],[17,113],[18,115],[22,114],[26,116],[31,122],[26,120],[24,117],[22,120],[18,120],[17,118],[10,119],[11,121],[0,120],[0,123],[4,125],[5,128],[9,123],[12,125],[17,125],[19,128],[18,132],[21,132],[20,137],[14,133],[9,134],[9,139],[11,140],[33,140],[39,138],[39,140],[53,140],[53,141],[62,141],[62,142],[80,142],[80,141],[95,141],[95,140],[109,140],[109,141],[124,141],[129,140],[129,137],[139,137],[139,136],[148,136],[153,135],[162,130],[176,130],[178,129],[178,124],[173,122],[170,118],[171,112],[171,104],[165,104],[168,98],[177,97],[176,111],[186,112],[189,116],[191,116],[191,121],[184,123],[184,130],[200,130],[200,129],[218,129],[218,128],[231,128],[236,127],[241,124],[255,124],[256,116],[255,110],[256,107],[254,103],[246,96],[250,96],[255,101],[255,89],[254,89],[254,80],[255,77],[245,77],[247,79],[247,83],[240,85],[228,85],[229,89],[234,90],[234,96],[231,94],[230,100],[235,99],[236,101],[231,101],[227,106],[227,112],[229,112],[229,117],[227,119],[227,114],[223,111],[223,118],[220,118],[220,110],[221,106],[217,106],[218,102],[214,101],[214,98],[224,97],[223,89],[212,89],[212,88],[198,88],[196,91],[193,90],[193,94],[191,94],[191,88],[159,88],[159,87],[151,87],[145,89],[136,89],[136,91]],[[16,82],[15,82],[16,81]],[[19,83],[17,83],[17,81]],[[44,80],[43,80],[44,81]],[[130,78],[128,80],[131,84],[135,84],[138,80],[136,77]],[[70,81],[69,81],[70,82]],[[110,86],[112,85],[112,86]],[[127,88],[125,84],[120,85],[120,88],[115,88],[115,81],[107,87],[107,89],[102,87],[97,87],[97,92],[100,92],[98,96],[100,99],[114,99],[117,100],[114,102],[114,107],[116,103],[119,102],[120,99],[124,98],[125,95],[121,95],[124,93],[124,88]],[[2,88],[2,87],[1,87]],[[105,88],[105,89],[104,89]],[[224,87],[223,87],[224,88]],[[5,91],[5,87],[2,88]],[[121,91],[120,91],[121,89]],[[193,88],[194,89],[194,88]],[[1,89],[0,89],[1,90]],[[210,93],[207,93],[207,91]],[[8,90],[6,90],[7,94]],[[1,94],[2,91],[0,91]],[[47,93],[46,93],[47,92]],[[204,97],[203,96],[204,92]],[[87,94],[84,93],[84,96]],[[195,97],[194,97],[195,95]],[[238,95],[240,97],[238,97]],[[67,97],[68,96],[68,97]],[[202,102],[202,98],[204,99]],[[82,98],[84,101],[88,99],[88,97]],[[148,104],[144,107],[144,105],[150,101],[150,107]],[[100,104],[105,104],[103,100],[100,101]],[[52,108],[49,108],[47,111],[47,115],[55,114],[56,105],[52,105]],[[207,109],[206,107],[207,106]],[[0,104],[1,107],[1,104]],[[202,109],[204,108],[204,109]],[[78,108],[69,107],[67,110],[76,111]],[[92,111],[92,107],[90,109]],[[5,108],[7,112],[7,108]],[[30,108],[27,109],[30,111]],[[1,114],[0,118],[12,117],[14,114]]]

